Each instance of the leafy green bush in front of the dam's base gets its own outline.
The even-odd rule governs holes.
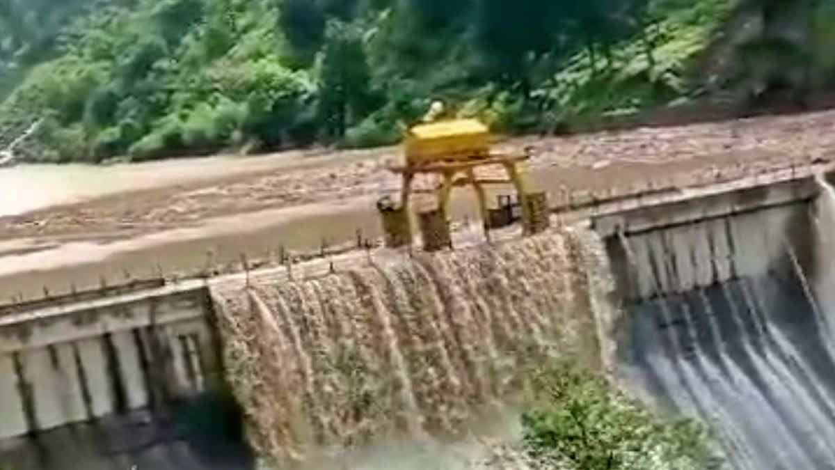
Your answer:
[[[703,427],[662,421],[605,378],[567,362],[534,372],[534,406],[522,416],[524,448],[536,467],[685,470],[716,466]]]

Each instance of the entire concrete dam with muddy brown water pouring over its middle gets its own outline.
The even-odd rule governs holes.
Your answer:
[[[10,305],[0,464],[243,469],[454,434],[566,355],[705,421],[730,468],[833,468],[829,170],[601,201],[441,253]]]

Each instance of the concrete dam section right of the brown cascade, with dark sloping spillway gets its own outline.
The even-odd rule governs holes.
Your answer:
[[[625,300],[620,379],[706,421],[731,467],[832,468],[832,188],[713,199],[597,221]]]

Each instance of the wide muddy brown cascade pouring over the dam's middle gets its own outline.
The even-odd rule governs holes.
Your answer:
[[[273,462],[398,436],[462,436],[550,356],[610,364],[612,283],[590,232],[212,289],[250,440]],[[601,346],[601,343],[603,346]]]

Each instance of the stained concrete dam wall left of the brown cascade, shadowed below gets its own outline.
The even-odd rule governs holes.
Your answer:
[[[205,286],[185,283],[0,318],[0,463],[245,468],[240,449],[230,463],[183,436],[189,413],[225,419],[208,312]]]

